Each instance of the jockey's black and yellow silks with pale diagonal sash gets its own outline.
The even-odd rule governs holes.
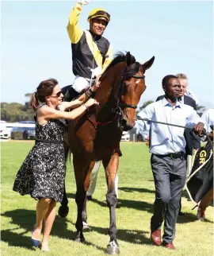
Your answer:
[[[91,77],[91,68],[100,66],[105,71],[113,60],[113,49],[105,37],[94,37],[90,31],[82,30],[78,18],[82,5],[75,4],[71,11],[67,32],[71,40],[73,73],[75,76]]]

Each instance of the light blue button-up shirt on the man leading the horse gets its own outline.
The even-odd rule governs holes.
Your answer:
[[[163,98],[149,104],[137,115],[152,121],[168,122],[179,126],[193,128],[198,122],[203,122],[193,107],[177,102],[174,107]],[[151,129],[150,152],[155,154],[168,154],[185,152],[184,128],[167,126],[155,122],[136,121],[136,133]]]

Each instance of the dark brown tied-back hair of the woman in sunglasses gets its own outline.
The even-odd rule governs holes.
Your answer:
[[[30,106],[36,110],[40,103],[45,102],[45,97],[52,95],[53,88],[58,84],[58,81],[54,78],[42,81],[36,88],[36,91],[32,94],[30,99]]]

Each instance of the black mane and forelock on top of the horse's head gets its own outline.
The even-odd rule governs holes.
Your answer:
[[[105,69],[105,72],[103,73],[103,75],[105,75],[106,72],[109,71],[110,68],[113,68],[114,66],[116,66],[117,64],[124,62],[126,60],[126,54],[127,52],[125,52],[125,54],[123,52],[117,52],[112,60],[112,62],[109,64],[109,66]],[[136,73],[139,71],[139,65],[137,65],[136,67],[136,58],[134,56],[131,56],[131,65],[126,69],[126,76],[132,76],[133,73]],[[136,70],[137,69],[137,70]]]

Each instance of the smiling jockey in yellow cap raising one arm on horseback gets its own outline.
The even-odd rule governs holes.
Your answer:
[[[113,49],[109,41],[102,37],[110,21],[110,15],[102,8],[96,8],[89,14],[89,30],[78,25],[82,6],[90,0],[80,0],[71,11],[67,33],[71,40],[72,63],[75,81],[69,87],[70,96],[77,96],[91,87],[94,79],[105,71],[113,59]],[[72,97],[70,97],[72,98]]]

